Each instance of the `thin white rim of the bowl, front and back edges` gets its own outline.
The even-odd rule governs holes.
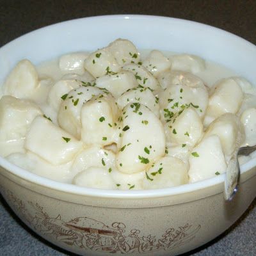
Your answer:
[[[33,33],[38,33],[38,31],[44,31],[45,29],[51,29],[54,26],[62,26],[63,24],[67,24],[70,22],[77,22],[79,20],[104,20],[104,19],[168,19],[173,20],[177,23],[183,23],[183,24],[193,24],[194,26],[198,26],[200,28],[206,28],[206,29],[212,29],[215,32],[222,33],[231,37],[234,37],[235,40],[240,40],[243,42],[243,44],[247,44],[249,47],[256,46],[252,44],[251,42],[248,42],[244,38],[241,38],[240,36],[234,35],[233,33],[230,33],[228,31],[225,31],[220,28],[216,28],[214,26],[210,26],[207,24],[202,24],[200,22],[195,22],[192,20],[185,20],[185,19],[177,19],[173,17],[164,17],[164,16],[157,16],[157,15],[134,15],[134,14],[122,14],[122,15],[100,15],[100,16],[93,16],[93,17],[84,17],[79,19],[72,19],[72,20],[66,20],[63,22],[58,22],[55,24],[51,24],[49,26],[45,26],[43,28],[35,29],[29,33],[26,33],[22,36],[19,36],[18,38],[15,38],[11,42],[8,42],[7,44],[0,47],[0,50],[4,50],[5,47],[8,47],[8,45],[15,44],[15,42],[19,41],[20,39],[31,36]],[[74,184],[67,184],[63,182],[58,182],[55,180],[51,180],[45,177],[41,177],[40,175],[36,175],[34,173],[29,172],[28,170],[25,170],[23,168],[20,168],[19,166],[16,166],[15,164],[10,163],[8,160],[4,159],[4,157],[0,156],[0,166],[2,166],[4,169],[6,169],[8,172],[12,173],[13,175],[16,175],[24,180],[28,180],[29,182],[38,184],[40,186],[44,186],[46,188],[51,188],[58,191],[63,191],[65,193],[71,193],[76,195],[84,195],[84,196],[93,196],[93,197],[101,197],[101,198],[124,198],[124,199],[132,199],[132,198],[156,198],[161,196],[172,196],[172,195],[180,195],[184,193],[190,193],[193,191],[197,191],[199,189],[205,189],[209,188],[211,186],[216,186],[218,184],[221,184],[225,180],[225,173],[218,175],[216,177],[212,177],[205,180],[200,180],[195,183],[190,184],[184,184],[181,186],[175,186],[171,188],[161,188],[161,189],[144,189],[144,190],[117,190],[117,189],[97,189],[97,188],[84,188],[80,186],[76,186]],[[253,159],[250,159],[247,163],[241,165],[241,173],[244,173],[253,167],[256,166],[256,157]],[[224,186],[223,186],[224,189]]]

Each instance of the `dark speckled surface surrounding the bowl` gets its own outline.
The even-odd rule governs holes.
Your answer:
[[[0,47],[24,33],[56,22],[109,14],[147,14],[194,20],[225,29],[256,44],[256,0],[0,0]],[[256,200],[224,234],[205,246],[186,253],[186,256],[256,255],[255,205]],[[26,228],[0,196],[0,255],[71,254],[45,242]]]

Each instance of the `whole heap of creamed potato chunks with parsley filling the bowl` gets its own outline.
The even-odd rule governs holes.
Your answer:
[[[241,77],[209,88],[189,54],[145,60],[129,40],[58,59],[58,76],[17,63],[0,100],[0,154],[88,188],[156,189],[224,173],[256,143],[256,96]]]

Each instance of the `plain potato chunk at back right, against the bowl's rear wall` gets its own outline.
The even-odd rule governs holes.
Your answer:
[[[179,54],[171,56],[172,70],[182,70],[193,74],[205,70],[205,61],[195,55]]]

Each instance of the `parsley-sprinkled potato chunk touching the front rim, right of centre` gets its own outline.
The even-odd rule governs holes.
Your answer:
[[[165,156],[147,170],[143,179],[143,188],[168,188],[186,183],[188,183],[186,164],[179,158]]]

